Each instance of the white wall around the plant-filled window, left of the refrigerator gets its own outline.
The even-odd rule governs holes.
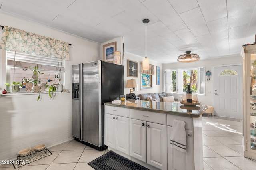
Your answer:
[[[100,44],[52,28],[0,13],[0,25],[12,26],[71,43],[66,82],[71,90],[72,65],[101,59]],[[6,88],[6,61],[0,51],[0,93]],[[54,146],[72,139],[71,93],[56,94],[49,100],[47,94],[0,96],[0,160],[10,160],[19,150],[44,143]]]

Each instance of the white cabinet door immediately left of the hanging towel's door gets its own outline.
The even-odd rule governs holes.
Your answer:
[[[167,126],[147,122],[147,164],[167,169]]]

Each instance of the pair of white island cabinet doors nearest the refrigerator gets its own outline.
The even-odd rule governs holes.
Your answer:
[[[104,144],[129,155],[130,118],[105,113]]]

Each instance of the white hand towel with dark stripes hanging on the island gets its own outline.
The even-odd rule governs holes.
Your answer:
[[[170,144],[172,144],[172,147],[179,150],[180,152],[186,152],[187,142],[184,121],[173,121],[170,135]]]

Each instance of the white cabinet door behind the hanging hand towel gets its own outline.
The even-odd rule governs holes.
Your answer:
[[[186,130],[186,152],[180,152],[170,144],[172,127],[167,127],[168,170],[194,170],[194,142],[193,131]],[[190,137],[189,137],[190,136]]]

